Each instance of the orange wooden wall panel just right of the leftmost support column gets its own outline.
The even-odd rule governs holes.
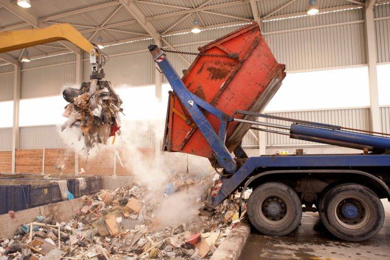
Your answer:
[[[16,173],[42,173],[43,149],[17,150]]]

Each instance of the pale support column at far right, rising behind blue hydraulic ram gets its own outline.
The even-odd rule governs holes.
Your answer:
[[[368,63],[368,82],[370,89],[371,129],[381,132],[381,118],[379,110],[378,77],[376,71],[376,36],[374,22],[375,0],[366,0],[366,53]]]

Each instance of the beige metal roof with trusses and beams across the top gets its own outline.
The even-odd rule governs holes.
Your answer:
[[[389,1],[377,0],[376,4]],[[364,0],[318,0],[319,14],[362,8]],[[105,44],[178,34],[190,30],[193,20],[201,28],[306,16],[308,0],[31,0],[23,9],[16,1],[0,0],[0,31],[41,28],[70,23],[92,43]],[[68,42],[28,48],[30,57],[79,52]],[[15,63],[23,50],[0,54],[1,63]]]

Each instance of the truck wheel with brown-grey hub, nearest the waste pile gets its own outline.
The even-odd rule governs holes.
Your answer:
[[[301,222],[302,203],[294,189],[283,183],[267,182],[250,194],[248,216],[259,232],[284,236]]]

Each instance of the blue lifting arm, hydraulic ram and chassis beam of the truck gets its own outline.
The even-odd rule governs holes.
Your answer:
[[[343,131],[341,126],[315,123],[303,120],[277,118],[294,122],[291,126],[278,125],[266,122],[246,120],[242,118],[229,117],[216,107],[191,93],[179,75],[176,73],[166,55],[156,45],[150,45],[149,51],[159,69],[164,73],[173,91],[180,102],[191,115],[194,123],[197,124],[203,136],[214,152],[219,165],[228,173],[233,173],[230,178],[221,179],[222,185],[215,197],[208,204],[209,209],[215,208],[223,200],[244,183],[256,169],[324,169],[324,168],[356,168],[356,167],[390,167],[390,155],[303,155],[303,156],[259,156],[250,157],[237,169],[236,162],[225,146],[226,129],[229,121],[257,124],[267,128],[255,128],[259,131],[288,135],[290,138],[302,139],[318,143],[327,143],[356,149],[367,148],[369,150],[390,149],[390,138],[373,136]],[[219,119],[218,134],[202,112],[201,108],[216,116]],[[257,114],[247,111],[236,111],[236,114],[251,116],[269,117],[269,115]],[[275,118],[276,119],[276,118]],[[288,132],[272,131],[268,128],[279,128]],[[382,134],[382,133],[376,133]]]

